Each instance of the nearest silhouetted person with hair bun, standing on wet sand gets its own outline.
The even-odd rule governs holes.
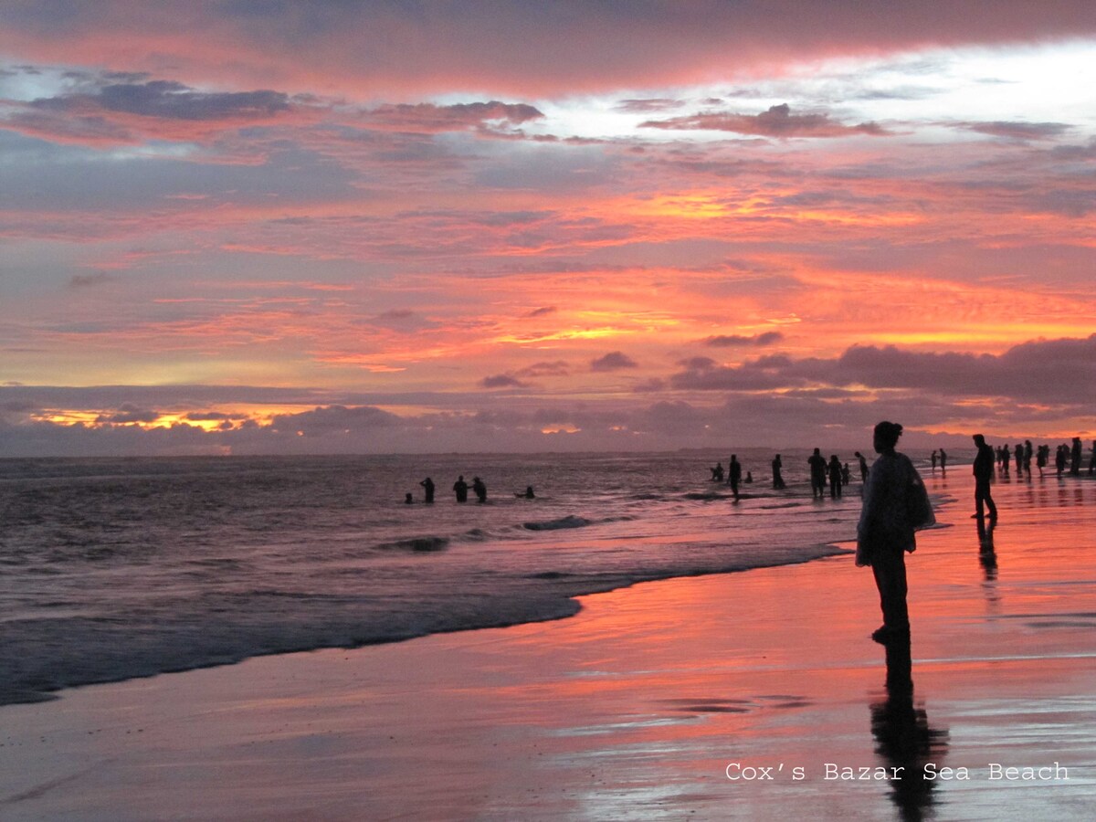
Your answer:
[[[871,638],[884,643],[910,637],[905,555],[916,547],[914,528],[935,522],[917,469],[907,456],[894,450],[901,435],[902,426],[895,422],[883,421],[875,427],[872,445],[879,458],[868,472],[856,526],[856,564],[871,567],[883,614],[883,624]],[[912,494],[917,495],[916,511],[910,504]]]

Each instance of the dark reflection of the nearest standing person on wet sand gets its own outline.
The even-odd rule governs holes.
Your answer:
[[[903,820],[922,820],[933,803],[933,786],[925,765],[939,765],[947,751],[947,731],[928,726],[924,708],[913,705],[913,663],[910,640],[887,643],[887,699],[871,706],[871,735],[887,768],[902,768],[891,779],[891,800]],[[938,770],[939,768],[935,768]]]

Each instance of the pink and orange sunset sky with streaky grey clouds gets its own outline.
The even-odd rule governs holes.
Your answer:
[[[1089,2],[0,0],[0,456],[1096,436]]]

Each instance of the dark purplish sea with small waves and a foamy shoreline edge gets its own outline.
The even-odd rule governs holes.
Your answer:
[[[640,581],[847,551],[808,452],[0,460],[0,705],[78,685],[558,619]],[[916,460],[922,467],[925,459]],[[458,503],[458,476],[487,501]],[[431,477],[435,501],[423,502]],[[532,486],[535,498],[520,496]],[[413,502],[406,503],[411,493]]]

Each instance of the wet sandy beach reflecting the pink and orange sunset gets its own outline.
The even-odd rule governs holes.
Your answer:
[[[0,818],[1091,819],[1096,482],[998,483],[982,536],[969,470],[926,477],[909,658],[850,556],[648,583],[2,708]]]

